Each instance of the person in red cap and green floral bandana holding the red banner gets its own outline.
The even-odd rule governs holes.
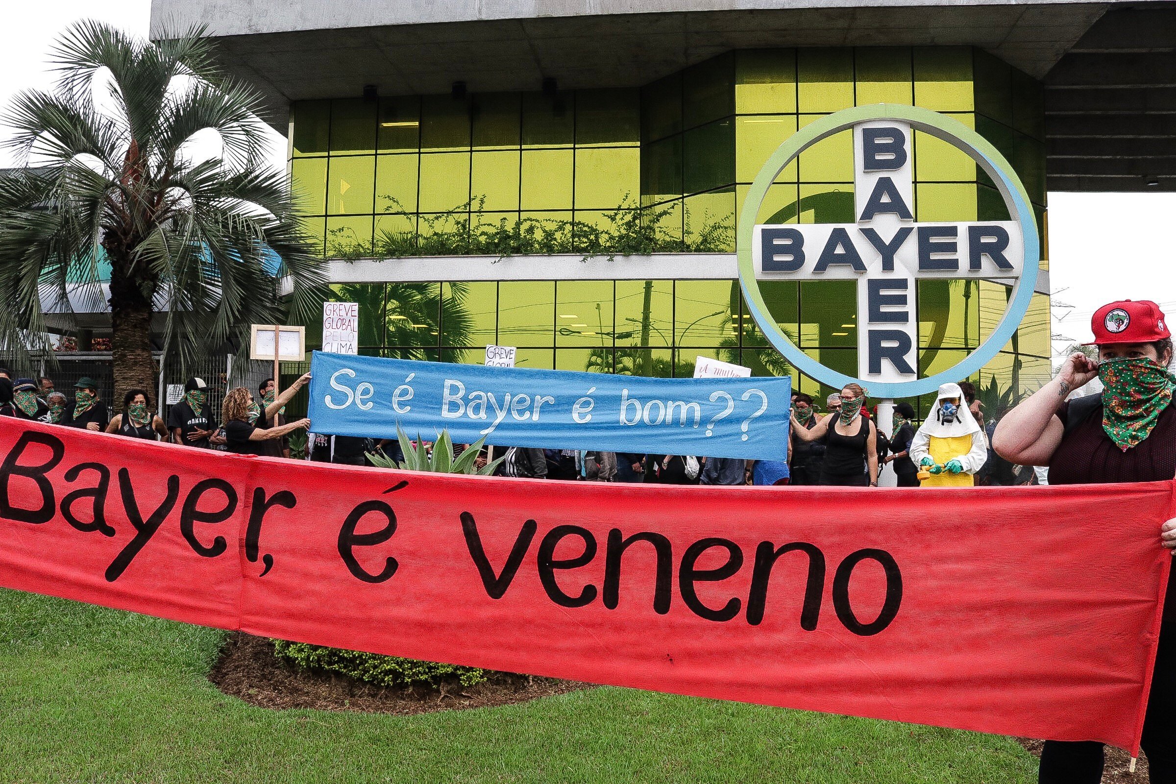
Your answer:
[[[1090,329],[1095,340],[1088,346],[1098,347],[1098,360],[1071,355],[1053,381],[1001,420],[993,449],[1011,463],[1049,465],[1050,484],[1171,480],[1176,376],[1164,314],[1155,302],[1111,302],[1095,311]],[[1101,394],[1067,401],[1095,376]],[[1176,520],[1163,524],[1160,543],[1176,548]],[[1176,782],[1176,570],[1171,576],[1143,723],[1154,784]],[[1038,782],[1098,784],[1102,770],[1101,743],[1047,741]]]

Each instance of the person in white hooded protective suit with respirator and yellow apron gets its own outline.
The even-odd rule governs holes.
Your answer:
[[[970,488],[988,460],[988,442],[964,404],[960,384],[940,386],[935,407],[910,442],[910,460],[924,488]]]

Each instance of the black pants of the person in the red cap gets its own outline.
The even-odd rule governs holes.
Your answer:
[[[1160,650],[1151,675],[1143,752],[1151,784],[1176,784],[1176,622],[1160,626]],[[1089,741],[1047,741],[1041,750],[1038,784],[1098,784],[1103,745]]]

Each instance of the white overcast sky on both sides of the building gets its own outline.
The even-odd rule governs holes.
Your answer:
[[[54,40],[79,19],[100,19],[146,36],[151,0],[12,0],[0,27],[0,107],[31,87],[47,88]],[[0,140],[9,136],[0,123]],[[273,161],[285,166],[274,134]],[[0,150],[0,167],[12,166]],[[1176,317],[1176,193],[1049,194],[1054,349],[1089,340],[1090,314],[1117,299],[1154,300]],[[1073,306],[1073,307],[1071,307]]]

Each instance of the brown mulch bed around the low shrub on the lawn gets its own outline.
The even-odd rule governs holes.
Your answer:
[[[463,686],[456,678],[439,682],[436,688],[426,684],[377,686],[345,675],[305,670],[274,656],[274,644],[268,638],[238,631],[225,643],[208,679],[225,693],[259,708],[313,708],[399,716],[510,705],[592,688],[587,683],[510,672],[487,671],[486,675],[488,681],[474,686]]]

